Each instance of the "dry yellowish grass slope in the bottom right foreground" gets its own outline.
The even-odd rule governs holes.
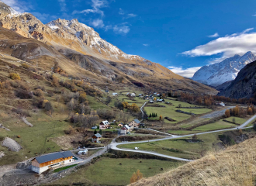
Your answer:
[[[256,138],[130,185],[254,185]]]

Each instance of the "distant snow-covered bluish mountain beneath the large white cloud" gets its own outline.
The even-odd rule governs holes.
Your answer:
[[[237,73],[254,60],[256,60],[256,56],[251,52],[247,52],[243,56],[235,55],[220,63],[201,67],[199,71],[195,72],[192,80],[216,87],[234,80]]]

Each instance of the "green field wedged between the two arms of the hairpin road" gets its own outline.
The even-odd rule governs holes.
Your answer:
[[[218,134],[220,133],[209,133],[205,135],[199,135],[200,143],[189,143],[185,140],[162,140],[150,143],[136,143],[119,145],[119,148],[134,149],[135,146],[139,147],[140,150],[154,151],[157,153],[166,154],[173,157],[182,157],[187,159],[202,157],[202,154],[209,150],[213,150],[213,143],[217,143]],[[189,138],[185,138],[189,139]],[[182,152],[174,152],[171,149],[182,150]]]

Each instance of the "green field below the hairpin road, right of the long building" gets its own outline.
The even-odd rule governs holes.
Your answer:
[[[142,163],[140,163],[140,161]],[[161,168],[163,168],[165,172],[182,164],[184,164],[184,162],[154,159],[113,159],[103,157],[90,167],[81,168],[77,172],[63,177],[51,184],[88,184],[88,182],[91,181],[94,184],[102,185],[127,185],[130,184],[130,177],[133,175],[133,172],[136,172],[137,170],[140,170],[140,172],[144,174],[144,177],[151,177],[162,173],[163,171],[161,171]],[[149,169],[149,167],[151,168]]]

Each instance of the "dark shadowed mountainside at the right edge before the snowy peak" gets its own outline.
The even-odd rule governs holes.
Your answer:
[[[219,95],[229,98],[252,98],[256,93],[256,61],[247,64]]]

